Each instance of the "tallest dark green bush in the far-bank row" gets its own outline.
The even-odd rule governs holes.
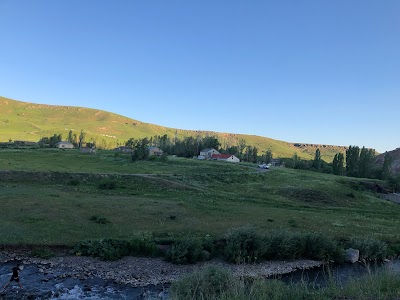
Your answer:
[[[261,249],[261,237],[253,227],[230,230],[223,251],[225,259],[235,263],[255,261]]]

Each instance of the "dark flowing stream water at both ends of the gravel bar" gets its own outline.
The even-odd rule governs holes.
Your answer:
[[[0,285],[4,286],[11,277],[11,268],[17,262],[0,264]],[[390,262],[391,270],[400,273],[400,260]],[[366,267],[360,263],[330,266],[327,268],[315,268],[311,270],[299,270],[290,274],[276,276],[274,278],[286,283],[296,283],[305,280],[315,287],[323,287],[330,278],[342,284],[350,278],[367,275],[381,269],[383,265]],[[1,300],[42,300],[42,299],[168,299],[168,286],[146,286],[140,288],[117,284],[100,278],[74,279],[64,277],[62,271],[54,271],[51,274],[41,273],[40,266],[36,264],[25,265],[20,274],[21,284],[24,289],[12,282],[5,291],[0,292]]]

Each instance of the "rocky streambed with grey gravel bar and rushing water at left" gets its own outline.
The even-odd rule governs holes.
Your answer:
[[[91,257],[58,256],[38,259],[18,252],[0,252],[0,284],[11,268],[22,263],[23,289],[13,282],[0,299],[168,299],[169,284],[207,265],[231,270],[237,276],[271,277],[321,266],[313,260],[267,261],[233,265],[211,260],[195,265],[174,265],[160,258],[125,257],[105,262]]]

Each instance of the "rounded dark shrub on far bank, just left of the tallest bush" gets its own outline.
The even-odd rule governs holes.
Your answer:
[[[201,239],[189,236],[175,241],[167,251],[166,260],[175,264],[193,264],[203,259]]]

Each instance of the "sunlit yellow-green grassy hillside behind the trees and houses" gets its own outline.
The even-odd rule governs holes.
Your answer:
[[[296,152],[299,157],[314,157],[317,147],[322,158],[331,162],[338,152],[344,152],[340,146],[293,144],[267,137],[242,135],[234,133],[218,133],[189,131],[167,128],[143,123],[110,112],[71,106],[54,106],[20,102],[0,97],[0,142],[12,140],[38,141],[43,136],[62,133],[66,138],[69,130],[79,135],[81,129],[87,133],[87,140],[96,141],[109,148],[124,144],[129,138],[144,138],[167,134],[171,138],[200,135],[216,135],[222,145],[236,145],[243,139],[246,144],[256,146],[261,154],[271,149],[274,157],[292,157]]]

